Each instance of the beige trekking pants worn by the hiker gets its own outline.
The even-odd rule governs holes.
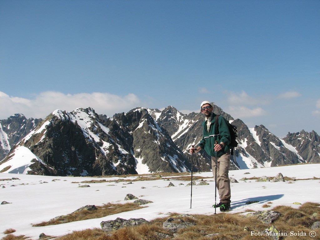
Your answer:
[[[211,157],[213,177],[215,177],[216,157]],[[216,186],[220,196],[220,203],[230,204],[231,190],[229,172],[230,169],[230,154],[224,154],[217,157],[217,179]]]

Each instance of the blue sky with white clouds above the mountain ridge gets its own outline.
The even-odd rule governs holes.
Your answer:
[[[320,134],[320,1],[0,1],[0,119],[213,101]]]

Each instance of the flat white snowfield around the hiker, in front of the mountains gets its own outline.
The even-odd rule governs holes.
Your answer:
[[[250,174],[244,174],[250,172]],[[292,203],[316,202],[320,203],[320,180],[298,180],[289,182],[256,182],[240,181],[246,177],[274,177],[281,172],[284,176],[306,179],[320,177],[320,164],[303,164],[282,167],[244,169],[230,171],[229,176],[239,183],[231,184],[231,213],[243,212],[246,209],[266,210],[262,205],[272,202],[271,208],[276,205],[290,205]],[[197,179],[212,177],[212,172],[195,173]],[[117,217],[144,218],[152,220],[164,217],[169,212],[188,214],[213,214],[214,208],[214,181],[213,178],[204,179],[210,185],[193,186],[192,208],[190,208],[189,182],[181,180],[149,180],[119,183],[92,183],[90,188],[78,188],[78,183],[84,180],[118,180],[112,178],[94,177],[51,177],[25,174],[0,173],[0,180],[19,178],[19,180],[0,181],[0,202],[11,204],[0,205],[0,237],[4,230],[13,228],[15,235],[27,235],[31,239],[38,239],[40,233],[51,236],[65,235],[73,230],[86,228],[100,228],[100,222],[114,220]],[[136,177],[127,177],[134,180]],[[52,181],[56,179],[55,181]],[[59,179],[59,180],[57,180]],[[169,178],[170,179],[170,178]],[[172,182],[175,187],[167,187]],[[197,183],[199,180],[197,180]],[[183,183],[184,185],[179,185]],[[14,185],[14,186],[13,186]],[[84,185],[84,183],[80,183]],[[114,186],[108,186],[114,185]],[[5,188],[2,188],[4,186]],[[124,188],[125,187],[125,188]],[[145,188],[141,188],[145,187]],[[31,224],[50,220],[59,215],[65,215],[88,204],[102,205],[103,203],[126,203],[127,194],[133,194],[140,199],[150,200],[147,208],[110,215],[100,219],[77,221],[53,226],[32,227]],[[134,201],[134,200],[130,200]],[[255,204],[245,204],[247,201],[259,201]],[[217,197],[217,203],[219,196]],[[267,209],[271,209],[267,208]],[[217,213],[220,213],[217,209]]]

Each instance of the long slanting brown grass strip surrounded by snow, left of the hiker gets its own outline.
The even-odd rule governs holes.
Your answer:
[[[88,211],[83,210],[80,212],[73,212],[68,215],[63,216],[62,218],[56,219],[56,220],[49,220],[47,222],[41,222],[38,224],[33,224],[33,227],[43,227],[48,225],[57,225],[61,223],[67,223],[67,222],[75,222],[75,221],[81,221],[81,220],[87,220],[87,219],[94,219],[94,218],[102,218],[108,215],[117,214],[120,212],[128,212],[133,211],[136,209],[143,208],[141,206],[138,206],[134,203],[125,203],[125,204],[103,204],[102,206],[96,206],[97,210]]]

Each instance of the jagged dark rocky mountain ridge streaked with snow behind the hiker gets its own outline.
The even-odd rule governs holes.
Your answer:
[[[263,125],[248,128],[212,105],[216,114],[238,129],[232,169],[320,162],[316,132],[302,130],[279,139]],[[188,153],[202,138],[203,119],[201,113],[185,115],[172,106],[163,111],[134,108],[112,118],[97,115],[92,108],[56,110],[41,122],[29,119],[24,124],[29,132],[20,132],[24,138],[10,144],[11,150],[5,143],[13,142],[9,136],[18,133],[8,134],[9,129],[13,132],[12,122],[8,125],[1,120],[0,150],[10,153],[0,159],[0,171],[59,176],[189,172],[191,160],[193,171],[210,171],[211,158],[204,151],[193,156]]]

